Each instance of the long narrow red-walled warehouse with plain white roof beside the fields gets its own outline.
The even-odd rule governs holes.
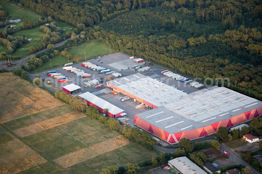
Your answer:
[[[107,115],[109,115],[110,117],[118,118],[121,116],[122,113],[124,113],[123,109],[112,105],[111,103],[97,97],[94,94],[91,94],[90,92],[85,92],[78,96],[81,97],[83,100],[86,100],[89,105],[96,106],[97,109],[101,112],[104,112],[104,109],[108,109]]]

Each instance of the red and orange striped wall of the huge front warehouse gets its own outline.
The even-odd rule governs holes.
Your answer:
[[[134,116],[134,123],[141,127],[144,130],[147,130],[151,132],[152,134],[158,136],[159,138],[162,138],[163,140],[169,142],[170,144],[178,143],[181,138],[187,138],[189,140],[196,139],[196,138],[201,138],[210,134],[214,134],[217,129],[220,126],[223,127],[232,127],[234,125],[241,124],[243,122],[246,122],[248,120],[252,120],[253,118],[257,118],[262,114],[262,106],[259,108],[253,109],[251,111],[236,115],[234,117],[219,121],[217,123],[205,126],[205,127],[200,127],[198,129],[193,129],[193,130],[188,130],[184,132],[179,132],[175,134],[170,134],[166,131],[163,131],[162,129],[148,123],[147,121],[137,117],[136,115]]]

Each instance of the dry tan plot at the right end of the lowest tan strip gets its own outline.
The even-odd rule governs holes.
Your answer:
[[[90,146],[89,148],[94,150],[98,154],[103,154],[119,147],[125,146],[129,143],[130,141],[127,138],[119,135],[115,138],[95,144],[94,146]]]

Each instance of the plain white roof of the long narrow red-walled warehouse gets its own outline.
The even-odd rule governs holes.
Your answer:
[[[112,105],[111,103],[103,100],[102,98],[97,97],[94,94],[91,94],[90,92],[85,92],[85,93],[80,94],[78,96],[81,97],[81,98],[84,98],[85,100],[93,103],[94,105],[96,105],[96,106],[98,106],[102,109],[108,109],[108,112],[110,112],[113,115],[118,114],[120,112],[124,112],[123,109],[120,109],[119,107]]]

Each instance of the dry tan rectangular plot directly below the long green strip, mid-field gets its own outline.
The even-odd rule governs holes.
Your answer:
[[[83,117],[86,117],[86,115],[79,111],[75,111],[36,124],[46,130]]]

